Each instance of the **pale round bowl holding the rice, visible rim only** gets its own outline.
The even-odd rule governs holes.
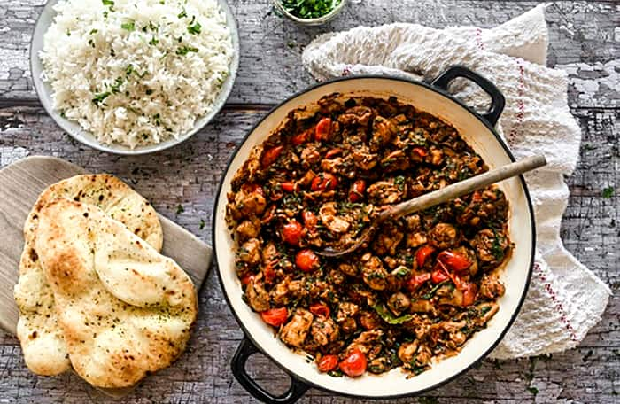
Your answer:
[[[58,126],[65,129],[66,133],[74,137],[75,140],[89,145],[93,149],[107,151],[114,154],[135,155],[162,151],[174,146],[175,144],[182,143],[183,141],[189,139],[190,136],[198,132],[198,130],[204,128],[207,123],[213,120],[213,117],[220,112],[221,107],[226,103],[233,84],[235,83],[236,72],[239,68],[239,35],[236,28],[235,17],[232,12],[230,12],[229,4],[226,3],[226,0],[218,0],[221,10],[226,14],[227,24],[230,28],[233,43],[233,58],[230,62],[229,76],[221,85],[220,94],[215,99],[211,111],[196,120],[194,128],[191,128],[190,131],[179,136],[178,139],[172,138],[159,144],[139,146],[135,149],[131,149],[130,147],[121,144],[102,144],[98,142],[97,138],[88,131],[82,129],[79,123],[73,120],[66,120],[60,116],[58,111],[54,110],[52,107],[52,90],[50,85],[49,83],[41,80],[43,66],[41,64],[41,60],[39,59],[39,51],[43,49],[43,35],[45,35],[45,32],[47,32],[52,21],[54,20],[54,17],[56,16],[56,12],[53,7],[58,4],[58,1],[59,0],[49,0],[43,7],[43,11],[39,15],[39,19],[36,20],[35,32],[32,36],[32,42],[30,43],[30,72],[32,74],[32,80],[35,84],[36,94],[38,95],[43,108],[45,108],[45,111],[50,114],[51,118],[58,123]]]

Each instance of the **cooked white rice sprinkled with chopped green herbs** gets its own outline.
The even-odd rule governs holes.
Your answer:
[[[233,57],[215,0],[66,0],[54,9],[43,81],[54,108],[99,142],[159,144],[213,107]]]

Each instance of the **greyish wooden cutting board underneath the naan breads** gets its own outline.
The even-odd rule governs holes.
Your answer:
[[[23,226],[39,194],[52,183],[87,173],[63,159],[28,157],[0,170],[0,327],[15,334],[19,316],[13,287],[19,277]],[[159,215],[164,230],[162,253],[188,273],[197,288],[211,266],[211,247],[186,229]]]

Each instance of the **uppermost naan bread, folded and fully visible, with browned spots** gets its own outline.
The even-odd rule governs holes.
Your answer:
[[[59,199],[35,240],[75,372],[97,387],[135,385],[182,351],[198,303],[174,260],[97,206]]]

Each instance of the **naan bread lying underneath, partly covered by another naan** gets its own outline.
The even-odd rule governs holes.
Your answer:
[[[149,202],[112,175],[77,175],[43,190],[24,225],[25,245],[19,262],[19,283],[14,296],[19,307],[17,335],[28,369],[53,376],[69,369],[65,340],[56,323],[56,307],[39,253],[35,234],[43,206],[66,198],[99,206],[138,237],[160,251],[163,232]]]

